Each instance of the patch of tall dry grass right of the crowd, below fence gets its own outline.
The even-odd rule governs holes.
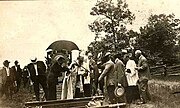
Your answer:
[[[180,108],[180,83],[175,81],[151,80],[149,84],[154,108]]]

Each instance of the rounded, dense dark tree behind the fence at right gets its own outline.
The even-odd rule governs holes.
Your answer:
[[[148,24],[140,28],[139,48],[154,58],[154,62],[170,63],[174,58],[175,41],[178,34],[179,19],[174,14],[151,15]]]

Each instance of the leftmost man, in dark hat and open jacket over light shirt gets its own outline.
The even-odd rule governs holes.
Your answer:
[[[8,60],[5,60],[3,62],[3,71],[5,72],[5,76],[3,78],[3,92],[5,93],[7,99],[9,98],[9,96],[12,99],[14,74],[9,67],[9,63],[10,62]]]

